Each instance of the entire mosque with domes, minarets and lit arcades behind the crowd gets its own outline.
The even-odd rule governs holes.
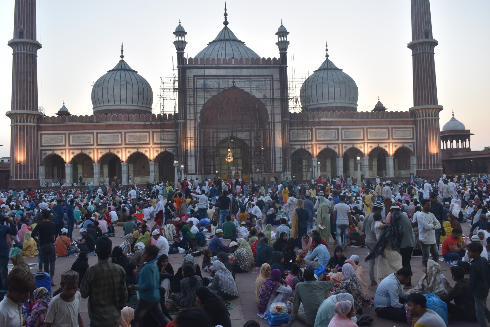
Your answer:
[[[153,91],[121,49],[120,60],[93,85],[93,112],[78,116],[64,103],[55,116],[38,107],[41,44],[35,2],[15,1],[14,36],[8,42],[13,49],[12,108],[6,112],[10,187],[53,181],[98,185],[106,178],[127,185],[216,175],[264,181],[343,174],[431,178],[444,168],[469,169],[453,158],[475,156],[469,130],[454,117],[440,132],[438,42],[428,0],[411,1],[414,104],[408,111],[388,111],[380,101],[358,111],[356,82],[331,61],[328,48],[325,60],[311,67],[318,69],[301,85],[299,99],[292,98],[289,31],[281,22],[275,33],[279,55],[266,58],[231,31],[225,6],[222,29],[198,54],[185,54],[187,32],[180,22],[173,32],[174,113],[152,113]],[[480,160],[478,169],[485,165],[486,170],[489,159]]]

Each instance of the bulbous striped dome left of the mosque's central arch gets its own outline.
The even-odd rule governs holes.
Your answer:
[[[152,103],[150,84],[123,59],[92,87],[94,111],[101,113],[150,113]]]

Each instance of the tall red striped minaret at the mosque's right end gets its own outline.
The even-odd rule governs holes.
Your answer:
[[[414,107],[416,117],[417,174],[425,178],[442,175],[439,112],[437,101],[434,48],[438,42],[432,36],[429,0],[411,0],[412,50],[414,76]]]

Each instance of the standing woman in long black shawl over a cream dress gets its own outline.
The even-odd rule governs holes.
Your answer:
[[[399,251],[403,233],[405,233],[405,228],[401,222],[401,213],[395,212],[392,215],[391,223],[382,229],[373,251],[365,259],[365,261],[368,261],[379,256],[378,283],[402,268]]]

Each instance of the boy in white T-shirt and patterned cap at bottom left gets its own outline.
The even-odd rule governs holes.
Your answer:
[[[80,275],[73,270],[67,270],[61,274],[60,286],[63,291],[51,299],[48,306],[48,313],[44,320],[46,327],[54,326],[83,326],[80,315],[80,300],[78,292],[78,281]]]

